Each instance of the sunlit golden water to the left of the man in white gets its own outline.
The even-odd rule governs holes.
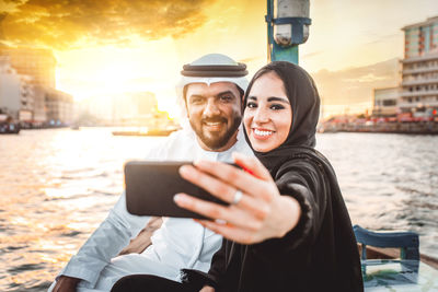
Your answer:
[[[123,163],[162,138],[111,129],[0,136],[0,291],[43,291],[123,189]]]

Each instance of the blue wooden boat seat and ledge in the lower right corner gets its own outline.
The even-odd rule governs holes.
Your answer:
[[[438,291],[438,259],[419,254],[417,233],[354,231],[365,291]]]

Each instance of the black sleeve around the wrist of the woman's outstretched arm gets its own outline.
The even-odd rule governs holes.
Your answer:
[[[327,205],[326,179],[322,165],[308,159],[286,162],[277,172],[275,182],[279,192],[291,196],[301,207],[297,226],[281,238],[270,238],[251,247],[252,253],[266,260],[275,255],[293,253],[301,246],[310,246],[315,241]]]

